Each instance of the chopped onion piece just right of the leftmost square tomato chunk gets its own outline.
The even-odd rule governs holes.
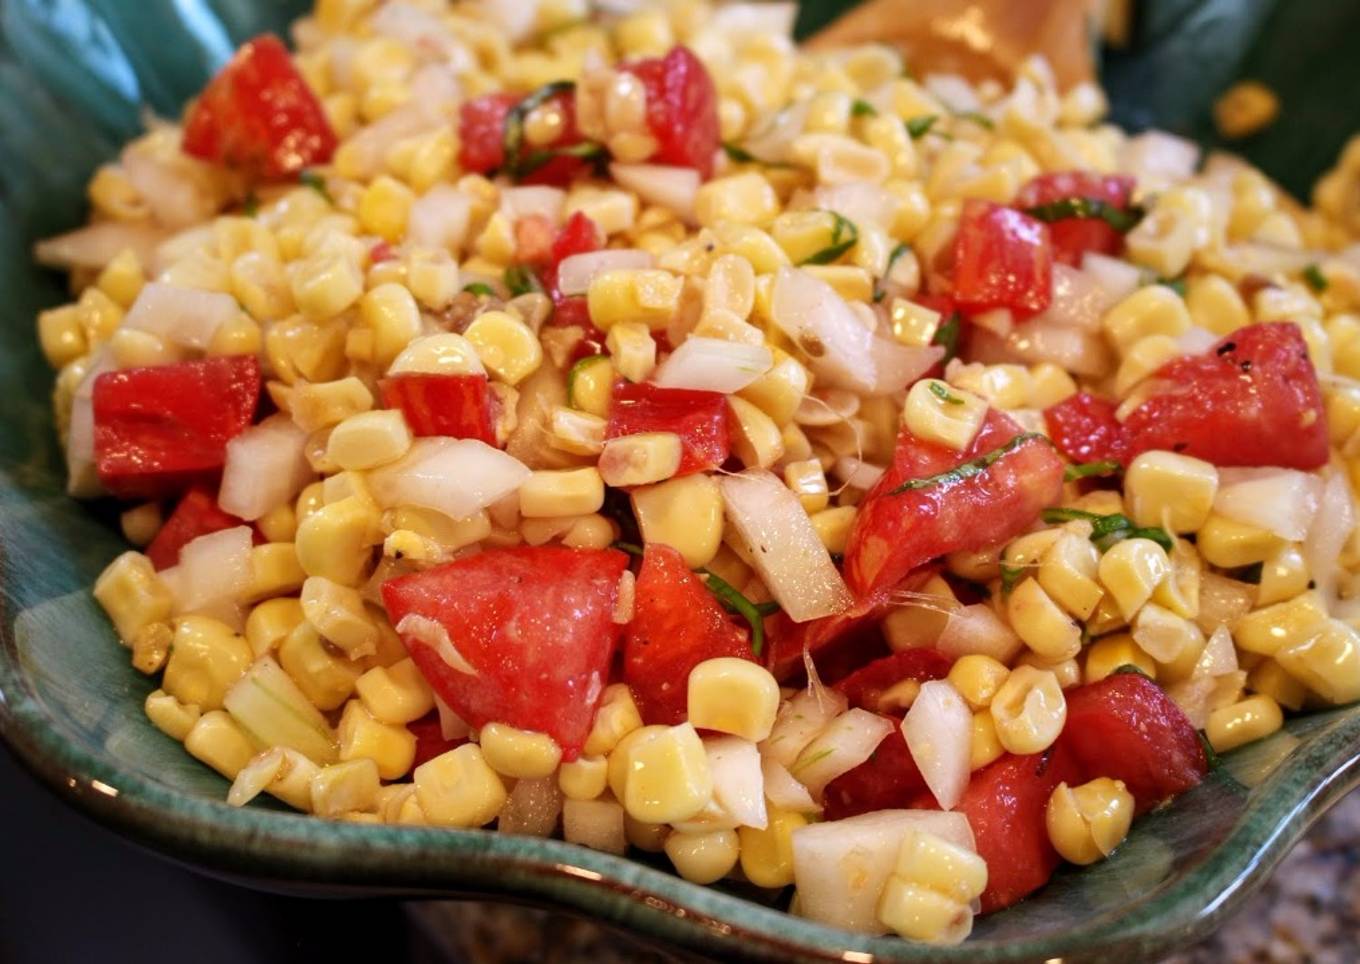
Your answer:
[[[311,480],[307,434],[287,415],[271,415],[227,442],[218,504],[248,522],[291,502]]]

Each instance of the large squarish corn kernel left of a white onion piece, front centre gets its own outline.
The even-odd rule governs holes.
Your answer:
[[[691,723],[665,727],[628,749],[623,806],[634,820],[690,820],[711,797],[709,757]]]

